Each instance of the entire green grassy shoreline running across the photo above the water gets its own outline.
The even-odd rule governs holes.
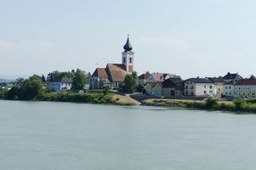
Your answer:
[[[164,106],[207,111],[227,111],[235,114],[256,114],[256,99],[235,99],[234,101],[222,101],[216,100],[215,98],[207,98],[204,100],[148,98],[139,102],[134,98],[130,98],[129,96],[122,96],[111,92],[104,94],[102,91],[92,91],[89,93],[44,92],[37,98],[28,100],[21,98],[2,99],[18,101],[57,101],[113,106]]]

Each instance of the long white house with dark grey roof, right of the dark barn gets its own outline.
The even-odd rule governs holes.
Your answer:
[[[184,95],[214,97],[216,96],[215,83],[207,78],[190,78],[184,82]]]

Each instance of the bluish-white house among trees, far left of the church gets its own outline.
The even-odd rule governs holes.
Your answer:
[[[63,77],[60,80],[49,81],[50,91],[69,91],[72,88],[72,78]]]

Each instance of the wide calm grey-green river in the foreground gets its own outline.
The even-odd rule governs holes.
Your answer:
[[[255,120],[166,107],[0,100],[0,169],[252,170]]]

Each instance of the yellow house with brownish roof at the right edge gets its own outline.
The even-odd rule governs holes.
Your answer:
[[[256,80],[243,79],[234,84],[234,98],[256,98]]]

